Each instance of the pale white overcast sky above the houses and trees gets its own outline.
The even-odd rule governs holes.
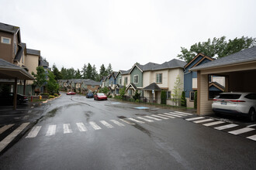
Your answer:
[[[22,42],[52,66],[97,70],[104,63],[177,59],[181,46],[227,36],[256,37],[255,0],[0,0],[0,22],[21,29]]]

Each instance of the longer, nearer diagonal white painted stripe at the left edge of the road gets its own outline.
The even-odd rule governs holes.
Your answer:
[[[1,142],[0,142],[0,152],[7,146],[9,145],[9,143],[16,138],[16,136],[22,132],[27,126],[29,125],[29,123],[23,123],[19,126],[19,128],[16,128],[15,131],[12,131],[11,134],[9,134],[6,138],[4,138]]]

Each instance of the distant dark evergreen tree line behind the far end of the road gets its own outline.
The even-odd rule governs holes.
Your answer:
[[[55,75],[55,80],[91,79],[99,81],[102,76],[107,76],[112,73],[112,66],[111,63],[109,63],[109,66],[106,68],[104,64],[102,64],[99,73],[97,72],[95,65],[92,66],[91,63],[88,63],[87,65],[84,64],[81,70],[74,70],[73,67],[64,68],[64,66],[62,66],[61,70],[58,70],[57,66],[54,64],[52,70]]]

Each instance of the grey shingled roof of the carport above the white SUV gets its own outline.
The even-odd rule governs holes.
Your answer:
[[[226,66],[235,63],[244,63],[249,61],[256,61],[256,46],[249,49],[241,50],[240,52],[230,54],[229,56],[224,56],[220,59],[213,60],[211,62],[202,64],[200,66],[195,66],[192,71],[208,69],[216,66]]]

